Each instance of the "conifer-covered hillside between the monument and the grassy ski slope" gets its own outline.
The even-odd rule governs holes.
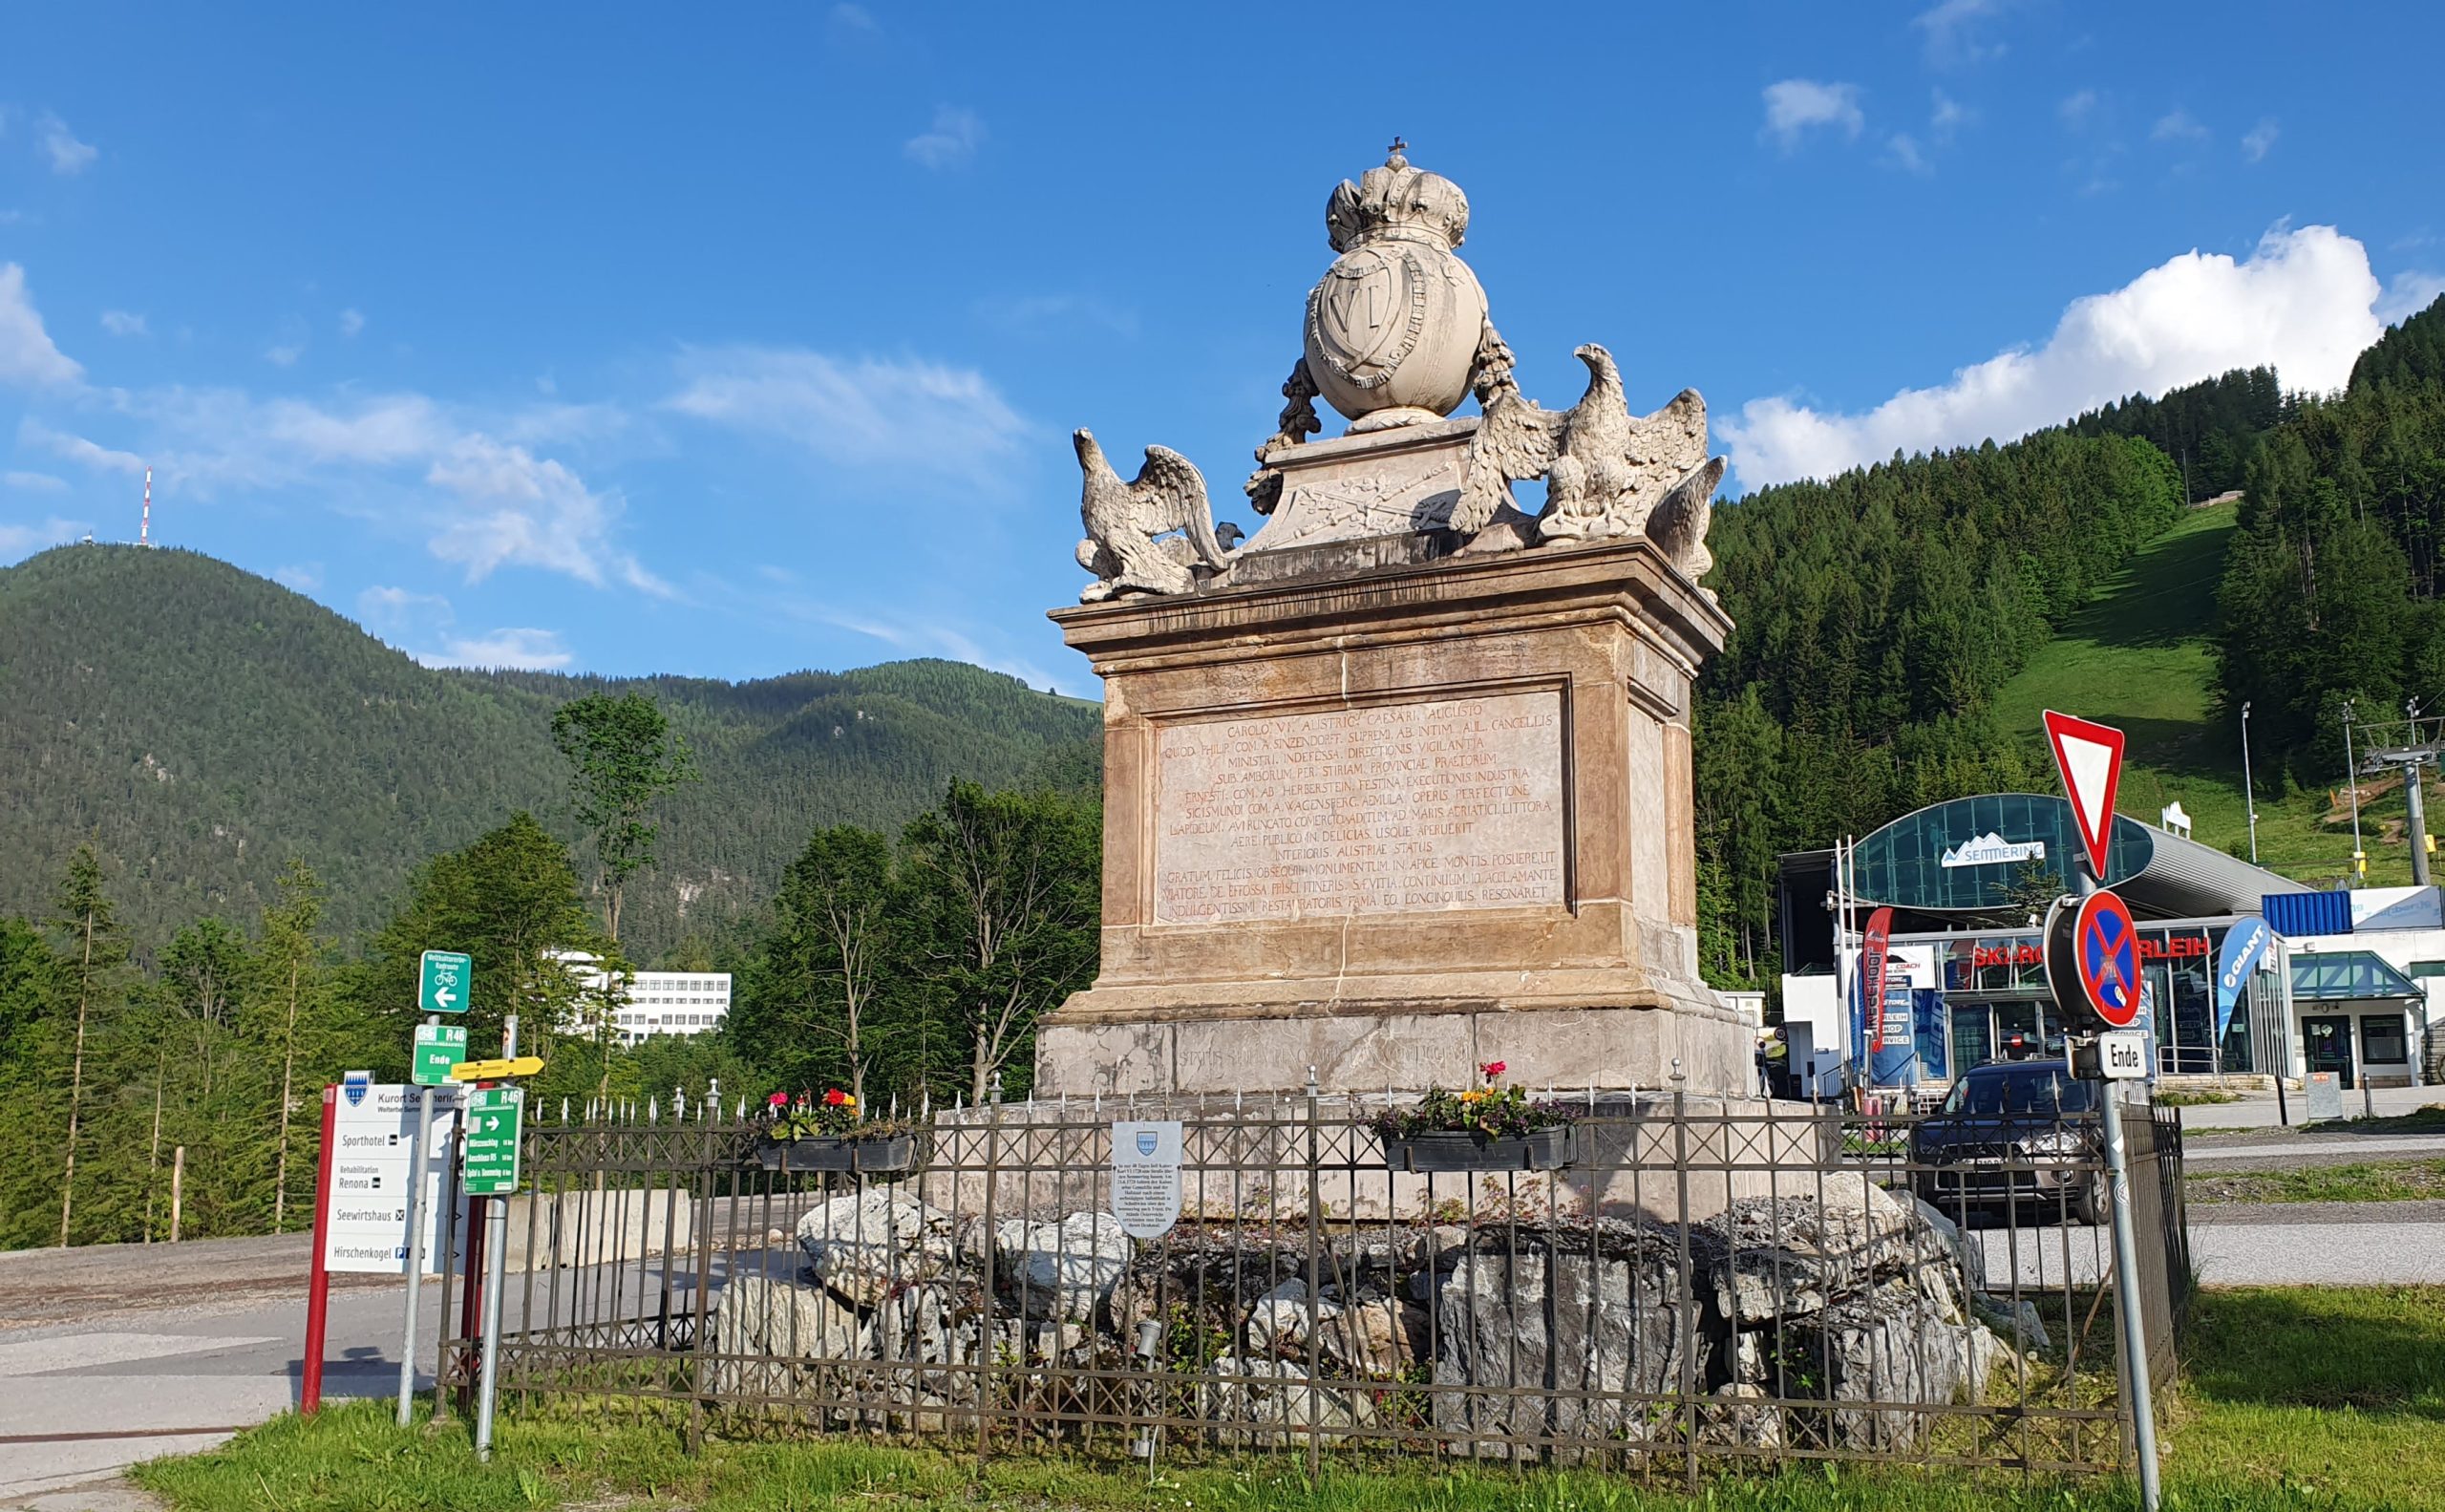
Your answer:
[[[1719,509],[1709,585],[1738,629],[1697,707],[1707,971],[1760,974],[1778,854],[2042,785],[1988,705],[2181,506],[2156,445],[2046,431]]]

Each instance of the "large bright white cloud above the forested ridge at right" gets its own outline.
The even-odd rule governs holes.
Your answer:
[[[2269,230],[2235,262],[2183,252],[2071,303],[2046,345],[1905,389],[1866,413],[1751,399],[1724,426],[1741,484],[1829,477],[1892,453],[2007,440],[2125,394],[2274,365],[2286,389],[2337,389],[2377,340],[2367,250],[2330,225]]]

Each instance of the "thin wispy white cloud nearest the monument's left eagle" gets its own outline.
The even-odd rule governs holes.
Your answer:
[[[993,382],[936,362],[844,362],[804,347],[714,347],[680,360],[670,409],[853,467],[978,475],[1027,423]]]

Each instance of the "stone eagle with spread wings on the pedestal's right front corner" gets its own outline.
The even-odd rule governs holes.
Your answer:
[[[1482,531],[1523,477],[1545,480],[1543,541],[1655,533],[1648,531],[1650,516],[1682,484],[1712,497],[1712,482],[1697,477],[1707,470],[1707,401],[1697,389],[1682,389],[1672,404],[1638,418],[1611,352],[1589,343],[1572,355],[1587,365],[1589,379],[1587,394],[1570,409],[1538,409],[1516,384],[1484,396],[1484,421],[1469,440],[1460,504],[1452,506],[1455,531]],[[1721,465],[1714,477],[1721,480]],[[1697,514],[1677,497],[1675,509],[1675,541],[1704,553],[1704,499]],[[1675,565],[1687,570],[1680,555]]]

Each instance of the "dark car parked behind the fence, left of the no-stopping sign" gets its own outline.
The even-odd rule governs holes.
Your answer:
[[[1910,1130],[1910,1184],[1944,1214],[2027,1204],[2081,1223],[2105,1214],[2098,1086],[2061,1059],[1976,1067]]]

